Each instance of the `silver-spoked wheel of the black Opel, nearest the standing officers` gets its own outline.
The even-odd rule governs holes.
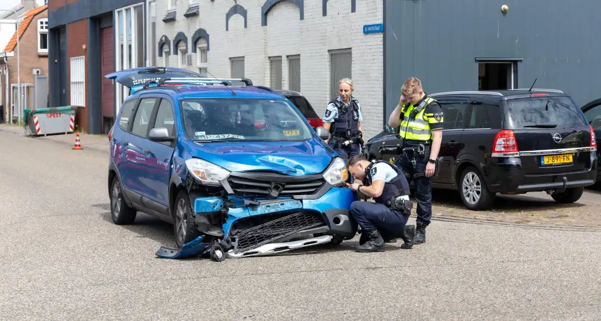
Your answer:
[[[490,192],[480,171],[473,166],[463,170],[457,182],[463,204],[470,210],[487,210],[495,201],[495,193]]]

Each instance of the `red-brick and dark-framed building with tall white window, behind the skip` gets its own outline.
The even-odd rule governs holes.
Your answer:
[[[123,91],[104,76],[147,66],[153,54],[147,0],[49,0],[48,7],[50,105],[78,107],[81,132],[108,133]]]

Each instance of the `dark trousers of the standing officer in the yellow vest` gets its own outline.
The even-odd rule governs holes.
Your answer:
[[[411,160],[415,156],[415,167]],[[432,219],[432,177],[421,176],[413,179],[413,175],[426,172],[426,165],[430,159],[430,150],[420,155],[416,151],[407,151],[402,157],[399,157],[396,164],[404,173],[409,174],[407,183],[415,182],[415,200],[416,206],[416,221],[429,225]]]

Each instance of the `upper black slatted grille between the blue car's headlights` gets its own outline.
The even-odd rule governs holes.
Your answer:
[[[281,189],[281,196],[313,195],[326,184],[321,175],[284,176],[270,173],[253,173],[244,176],[230,176],[228,184],[236,196],[266,196],[275,185]]]

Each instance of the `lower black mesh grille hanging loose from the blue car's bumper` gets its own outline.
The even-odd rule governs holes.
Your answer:
[[[325,222],[320,213],[296,212],[240,232],[234,242],[234,252],[257,248],[299,231],[323,225]]]

